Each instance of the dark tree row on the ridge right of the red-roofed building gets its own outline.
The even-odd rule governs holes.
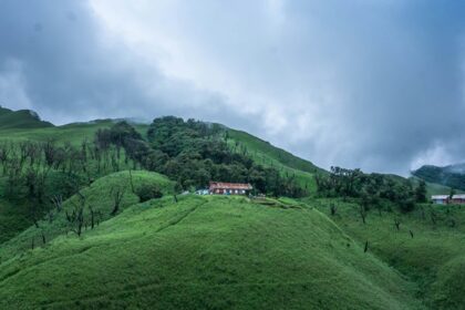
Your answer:
[[[426,202],[426,184],[415,187],[410,179],[382,174],[364,174],[360,169],[331,167],[329,175],[317,175],[318,192],[327,197],[360,198],[363,211],[379,206],[382,199],[392,202],[402,211],[411,211],[416,203]]]

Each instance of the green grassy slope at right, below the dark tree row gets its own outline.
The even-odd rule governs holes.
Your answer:
[[[308,200],[329,214],[330,204],[338,206],[332,217],[344,232],[364,244],[370,251],[410,276],[421,288],[420,298],[431,309],[463,309],[465,304],[465,208],[461,206],[424,206],[412,214],[399,215],[371,210],[366,225],[361,223],[358,206],[341,200]],[[432,210],[436,224],[431,219]],[[394,218],[401,221],[397,231]],[[455,226],[452,226],[454,219]],[[410,234],[413,232],[413,238]]]

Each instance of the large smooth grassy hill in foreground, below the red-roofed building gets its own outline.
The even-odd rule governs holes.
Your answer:
[[[0,265],[0,308],[415,309],[412,287],[316,209],[135,205]]]

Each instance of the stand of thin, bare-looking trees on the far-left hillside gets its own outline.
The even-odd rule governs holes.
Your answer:
[[[75,194],[95,177],[130,165],[128,157],[111,144],[84,140],[78,145],[44,142],[0,142],[0,195],[29,205],[37,223],[53,202]]]

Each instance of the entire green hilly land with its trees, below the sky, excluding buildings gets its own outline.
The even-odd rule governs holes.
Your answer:
[[[218,124],[1,107],[0,163],[0,309],[465,309],[465,208],[417,199],[442,185]],[[269,197],[180,195],[211,178]]]

